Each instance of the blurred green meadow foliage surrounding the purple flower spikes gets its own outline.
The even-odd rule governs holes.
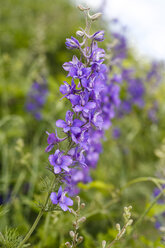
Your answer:
[[[45,132],[53,132],[55,121],[64,118],[68,109],[64,100],[59,101],[59,85],[66,78],[62,64],[74,54],[65,48],[65,39],[84,27],[84,18],[68,0],[0,3],[0,232],[5,233],[10,227],[25,235],[39,211],[36,202],[45,194],[41,177],[49,177],[45,169]],[[105,29],[106,42],[111,40],[105,20],[97,21],[92,29]],[[139,76],[150,66],[147,60],[137,59],[133,49],[124,63],[126,67],[135,67]],[[37,121],[26,112],[25,102],[33,80],[41,74],[47,78],[49,94],[43,119]],[[113,121],[112,127],[121,129],[121,137],[115,140],[112,128],[107,131],[104,152],[92,172],[94,181],[80,185],[80,197],[86,203],[83,214],[87,217],[80,230],[84,236],[80,247],[101,247],[102,240],[113,240],[115,224],[123,222],[124,206],[133,206],[136,222],[153,201],[155,186],[147,179],[123,188],[135,178],[155,177],[158,168],[164,166],[164,157],[155,154],[155,150],[162,149],[165,137],[163,80],[152,94],[151,89],[152,84],[146,85],[146,105],[142,110],[134,108],[131,114]],[[159,103],[157,123],[152,123],[147,115],[154,100]],[[7,201],[8,198],[11,200]],[[155,204],[133,235],[129,238],[130,228],[128,238],[126,235],[114,247],[165,247],[161,243],[162,233],[154,227],[159,209]],[[30,239],[32,247],[64,247],[72,221],[70,213],[46,213]]]

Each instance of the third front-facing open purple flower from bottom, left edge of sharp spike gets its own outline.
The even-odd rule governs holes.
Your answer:
[[[79,119],[73,120],[73,115],[74,115],[73,112],[67,111],[66,117],[65,117],[66,122],[63,120],[58,120],[58,121],[56,121],[56,126],[63,128],[65,133],[67,133],[69,131],[73,134],[80,133],[81,132],[81,126],[84,124],[84,122],[79,120]]]

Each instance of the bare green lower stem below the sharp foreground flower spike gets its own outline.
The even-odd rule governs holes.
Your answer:
[[[56,177],[54,178],[54,180],[53,180],[53,182],[52,182],[52,184],[51,184],[51,187],[50,187],[50,190],[49,190],[49,192],[48,192],[48,195],[47,195],[47,198],[46,198],[46,201],[45,201],[44,206],[43,206],[42,209],[40,210],[40,212],[39,212],[37,218],[35,219],[33,225],[31,226],[30,230],[29,230],[28,233],[26,234],[25,238],[22,240],[22,242],[19,244],[19,246],[18,246],[17,248],[21,248],[21,247],[27,242],[27,240],[30,238],[30,236],[31,236],[32,233],[34,232],[35,228],[37,227],[37,225],[38,225],[38,223],[39,223],[39,221],[40,221],[42,215],[44,214],[45,207],[46,207],[46,205],[47,205],[47,203],[48,203],[48,201],[49,201],[50,193],[51,193],[52,187],[53,187],[53,185],[54,185],[54,183],[55,183],[55,179],[56,179]]]

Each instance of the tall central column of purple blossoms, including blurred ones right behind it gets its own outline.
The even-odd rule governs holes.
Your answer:
[[[99,13],[88,16],[95,19]],[[46,148],[46,152],[50,152],[58,144],[54,154],[49,155],[49,162],[54,173],[62,177],[65,189],[62,192],[60,188],[58,194],[52,192],[50,197],[52,203],[59,204],[64,211],[73,203],[66,198],[66,193],[70,196],[77,194],[77,184],[91,180],[90,170],[96,167],[102,152],[101,140],[115,116],[115,108],[120,104],[118,80],[116,77],[108,79],[105,51],[98,46],[98,42],[104,40],[104,31],[90,35],[86,28],[77,31],[77,35],[83,41],[80,43],[74,37],[68,38],[66,47],[79,50],[80,58],[74,55],[72,61],[63,64],[68,80],[60,86],[63,98],[71,106],[65,120],[56,121],[65,137],[60,139],[57,131],[48,133]],[[69,142],[67,151],[59,146],[64,140]]]

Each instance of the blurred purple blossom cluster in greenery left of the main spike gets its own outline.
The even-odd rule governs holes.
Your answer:
[[[41,110],[46,102],[48,95],[48,82],[45,78],[34,81],[26,99],[26,111],[31,113],[36,120],[42,119]]]

